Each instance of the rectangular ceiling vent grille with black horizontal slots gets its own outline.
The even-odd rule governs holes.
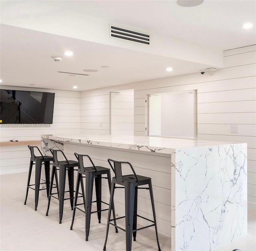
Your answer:
[[[110,26],[110,36],[112,38],[120,38],[128,40],[130,42],[140,43],[140,44],[149,44],[150,35],[143,34],[140,32],[135,32],[132,30],[126,30],[123,28],[118,28],[116,26]]]

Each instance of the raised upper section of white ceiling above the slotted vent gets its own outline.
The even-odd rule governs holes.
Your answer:
[[[60,7],[58,1],[51,2]],[[247,31],[241,28],[246,22],[256,24],[255,0],[204,0],[190,8],[178,6],[176,0],[60,2],[62,10],[75,10],[221,50],[256,42],[256,26]]]

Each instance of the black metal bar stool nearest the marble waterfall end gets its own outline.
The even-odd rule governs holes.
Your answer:
[[[153,197],[151,178],[136,175],[132,165],[129,162],[122,162],[122,161],[115,161],[112,159],[108,159],[108,163],[110,164],[112,170],[114,171],[115,177],[112,178],[109,211],[108,211],[108,223],[107,223],[106,239],[105,239],[103,250],[104,251],[106,250],[109,225],[118,227],[116,225],[116,223],[113,224],[111,221],[125,218],[125,229],[123,229],[121,227],[118,227],[118,228],[126,232],[126,251],[132,250],[132,235],[133,235],[134,241],[136,241],[136,232],[138,230],[141,230],[141,229],[144,229],[147,227],[152,227],[152,226],[155,226],[158,251],[161,251],[159,241],[158,241],[157,227],[156,227],[156,212],[155,212],[155,206],[154,206],[154,197]],[[111,163],[114,163],[114,168]],[[122,165],[123,164],[129,165],[130,168],[132,169],[133,174],[122,175]],[[122,185],[122,187],[120,187],[120,186],[116,187],[116,184]],[[138,187],[140,185],[148,185],[148,187]],[[115,190],[115,188],[124,188],[125,216],[110,219],[111,210],[114,207],[114,190]],[[149,190],[154,221],[137,214],[138,189],[148,189]],[[141,217],[142,219],[151,221],[153,224],[137,229],[137,217]]]

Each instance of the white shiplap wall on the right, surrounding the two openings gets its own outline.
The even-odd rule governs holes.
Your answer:
[[[81,97],[86,97],[86,100],[99,102],[96,117],[86,105],[86,109],[90,110],[86,119],[95,121],[97,118],[97,122],[104,120],[106,131],[98,128],[97,132],[108,133],[109,112],[104,109],[109,107],[109,92],[134,89],[134,134],[147,135],[148,94],[197,90],[198,138],[248,144],[248,202],[249,207],[256,209],[255,52],[256,46],[224,52],[225,68],[213,75],[187,74],[82,92]],[[238,133],[231,133],[231,124],[238,125]],[[84,132],[95,131],[85,123],[81,128]]]

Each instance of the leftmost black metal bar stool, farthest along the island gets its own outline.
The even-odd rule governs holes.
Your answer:
[[[45,190],[47,193],[47,197],[49,197],[49,188],[50,188],[50,161],[53,161],[52,156],[44,156],[42,155],[41,151],[37,146],[32,146],[28,145],[28,148],[30,149],[30,165],[29,165],[29,170],[28,170],[28,183],[27,183],[27,191],[26,191],[26,198],[24,205],[26,205],[27,198],[28,198],[28,189],[31,188],[35,190],[35,211],[37,210],[37,205],[38,205],[38,197],[39,197],[39,191]],[[38,152],[40,153],[40,156],[36,156],[34,149],[37,149]],[[42,165],[44,164],[44,170],[45,170],[45,179],[46,181],[43,183],[40,183],[41,179],[41,170],[42,170]],[[31,172],[32,172],[32,167],[33,165],[36,165],[36,173],[35,173],[35,184],[30,184],[30,178],[31,178]],[[58,181],[56,180],[56,183]],[[40,185],[46,184],[46,188],[41,188]],[[34,186],[34,187],[33,187]]]

